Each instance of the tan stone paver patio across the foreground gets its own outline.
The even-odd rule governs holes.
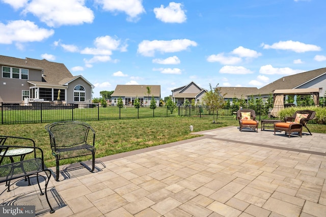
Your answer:
[[[97,159],[95,173],[64,166],[48,187],[56,212],[41,215],[326,216],[326,134],[196,134],[203,136]],[[0,185],[0,202],[35,195],[37,184],[25,185]]]

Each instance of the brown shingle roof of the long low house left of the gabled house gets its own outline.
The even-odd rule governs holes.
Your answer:
[[[121,85],[118,84],[112,97],[147,97],[147,86],[151,88],[150,97],[160,97],[160,85]]]

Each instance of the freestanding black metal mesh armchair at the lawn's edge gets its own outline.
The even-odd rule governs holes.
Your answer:
[[[95,169],[95,131],[85,122],[62,121],[45,126],[49,133],[52,155],[56,157],[56,181],[59,180],[59,161],[92,155],[92,169]],[[88,134],[93,134],[88,140]],[[82,163],[80,163],[82,164]],[[83,165],[83,164],[82,164]]]

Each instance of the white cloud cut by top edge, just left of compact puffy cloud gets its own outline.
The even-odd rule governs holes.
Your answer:
[[[126,13],[128,21],[137,21],[138,16],[145,12],[142,0],[95,0],[95,2],[102,5],[103,10]]]

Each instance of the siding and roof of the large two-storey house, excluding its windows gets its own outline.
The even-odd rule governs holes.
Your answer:
[[[3,66],[27,69],[28,79],[3,77]],[[83,76],[73,76],[64,64],[51,62],[46,59],[39,60],[27,57],[21,59],[0,55],[0,68],[0,102],[23,102],[23,90],[30,91],[30,100],[41,99],[39,97],[40,93],[43,91],[42,89],[46,89],[48,93],[46,96],[47,101],[56,100],[55,95],[58,95],[58,93],[53,93],[53,90],[68,89],[69,91],[65,91],[65,102],[77,103],[73,101],[73,88],[76,82],[83,85],[86,90],[85,102],[78,103],[91,103],[92,101],[92,88],[94,88],[94,86]],[[48,91],[47,89],[50,90]],[[32,92],[37,92],[38,94],[35,94],[33,97]]]

